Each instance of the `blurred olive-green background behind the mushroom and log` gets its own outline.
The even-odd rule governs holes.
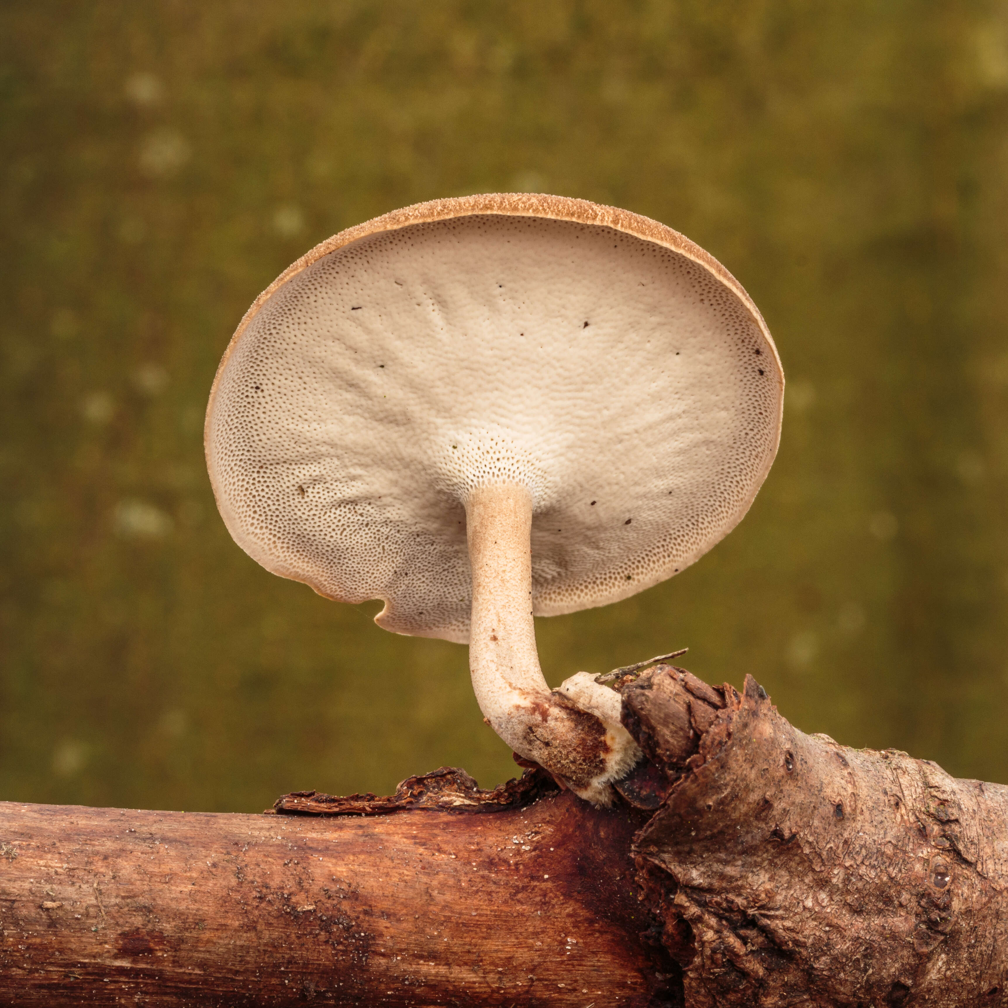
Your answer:
[[[547,678],[688,645],[806,731],[1008,781],[1008,7],[956,0],[0,8],[0,798],[252,809],[510,755],[464,648],[230,539],[202,421],[242,312],[419,200],[657,218],[788,378],[745,522],[540,621]]]

